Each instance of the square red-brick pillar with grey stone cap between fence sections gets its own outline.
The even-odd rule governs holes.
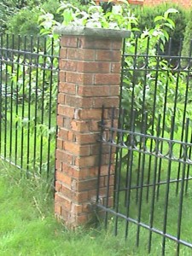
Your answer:
[[[119,106],[122,38],[128,32],[59,27],[55,214],[69,227],[93,215],[102,105]]]

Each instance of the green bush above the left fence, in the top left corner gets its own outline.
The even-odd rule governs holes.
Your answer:
[[[6,2],[0,6],[0,19],[2,25],[0,29],[2,32],[20,34],[20,35],[38,35],[38,16],[44,12],[50,12],[56,15],[56,9],[59,7],[59,0],[53,1],[15,1]]]

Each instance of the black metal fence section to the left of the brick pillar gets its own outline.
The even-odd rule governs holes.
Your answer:
[[[58,45],[0,36],[0,156],[27,173],[55,171]]]

